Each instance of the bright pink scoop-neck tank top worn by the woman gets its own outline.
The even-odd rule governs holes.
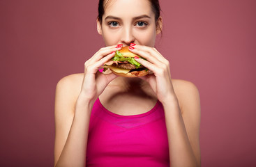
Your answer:
[[[96,100],[91,111],[86,166],[170,166],[162,104],[158,101],[146,113],[121,116]]]

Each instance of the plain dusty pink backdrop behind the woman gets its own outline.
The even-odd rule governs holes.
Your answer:
[[[97,3],[0,1],[0,166],[53,166],[55,86],[104,46]],[[160,3],[156,47],[201,95],[202,166],[256,166],[256,1]]]

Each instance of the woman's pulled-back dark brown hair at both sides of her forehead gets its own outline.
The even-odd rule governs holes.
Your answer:
[[[105,6],[107,3],[104,2],[106,0],[99,0],[98,2],[98,20],[100,21],[100,24],[103,22],[103,15],[105,12]],[[109,0],[107,0],[109,1]],[[149,0],[149,2],[151,3],[151,8],[153,10],[153,13],[155,13],[155,21],[158,20],[158,18],[160,17],[160,5],[159,5],[159,1],[158,0]]]

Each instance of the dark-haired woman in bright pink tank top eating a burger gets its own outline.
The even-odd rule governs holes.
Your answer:
[[[197,88],[171,79],[154,47],[162,30],[158,1],[100,1],[97,29],[105,41],[84,74],[57,84],[55,166],[200,166]],[[103,74],[124,46],[146,58],[144,77]]]

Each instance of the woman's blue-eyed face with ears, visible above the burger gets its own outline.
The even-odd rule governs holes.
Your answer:
[[[162,19],[158,19],[162,27]],[[157,29],[149,0],[110,0],[105,7],[102,24],[97,29],[106,46],[130,43],[154,47]]]

